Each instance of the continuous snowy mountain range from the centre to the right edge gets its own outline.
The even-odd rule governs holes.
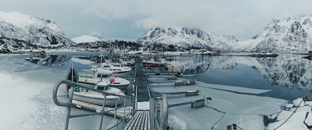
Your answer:
[[[274,18],[259,35],[238,41],[230,35],[216,36],[200,29],[152,28],[138,41],[180,47],[243,52],[307,52],[312,50],[312,15]]]

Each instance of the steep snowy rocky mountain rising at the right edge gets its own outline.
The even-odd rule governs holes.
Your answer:
[[[234,44],[235,51],[294,52],[312,50],[312,15],[274,18],[259,35]]]

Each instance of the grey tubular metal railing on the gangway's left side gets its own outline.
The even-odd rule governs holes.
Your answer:
[[[57,98],[57,92],[58,92],[58,89],[60,87],[60,85],[62,84],[66,84],[66,85],[69,85],[71,86],[70,87],[70,93],[69,93],[69,98],[68,98],[68,102],[60,102]],[[65,85],[65,86],[66,86]],[[65,87],[64,86],[64,87]],[[86,113],[86,114],[71,114],[71,108],[72,108],[72,100],[73,100],[73,93],[74,93],[74,88],[75,87],[80,87],[80,88],[84,88],[84,89],[87,89],[87,90],[90,90],[90,91],[95,91],[95,92],[98,92],[98,93],[102,93],[104,95],[104,100],[103,100],[103,106],[102,106],[102,111],[101,112],[97,112],[97,113]],[[118,126],[120,123],[123,123],[122,124],[122,128],[125,127],[125,123],[127,122],[127,120],[125,120],[126,117],[128,117],[128,119],[135,114],[135,101],[136,101],[136,98],[135,97],[129,97],[129,96],[121,96],[121,95],[115,95],[115,94],[111,94],[111,93],[107,93],[107,92],[104,92],[104,91],[100,91],[100,90],[97,90],[95,88],[90,88],[88,86],[85,86],[83,84],[78,84],[78,83],[75,83],[75,82],[72,82],[72,81],[69,81],[69,80],[60,80],[58,81],[55,85],[54,85],[54,88],[53,88],[53,101],[54,103],[57,105],[57,106],[61,106],[61,107],[67,107],[67,113],[66,113],[66,123],[65,123],[65,130],[68,130],[68,125],[69,125],[69,119],[70,118],[76,118],[76,117],[85,117],[85,116],[93,116],[93,115],[101,115],[101,122],[100,122],[100,126],[99,126],[99,130],[102,130],[102,124],[103,124],[103,118],[104,118],[104,114],[107,114],[108,112],[112,112],[112,111],[115,111],[115,117],[116,117],[116,111],[120,108],[127,108],[127,107],[132,107],[131,109],[131,112],[127,113],[124,112],[124,115],[123,115],[123,118],[121,118],[117,123],[116,125],[112,126],[111,128],[108,128],[107,130],[111,130],[113,128],[116,128],[116,130],[118,130]],[[125,97],[125,101],[124,101],[124,106],[122,107],[119,107],[117,108],[117,104],[115,105],[115,108],[114,109],[111,109],[109,111],[104,111],[105,109],[105,99],[106,99],[106,96],[108,95],[113,95],[113,96],[118,96],[120,98],[122,97]],[[126,100],[129,99],[129,104],[126,104]],[[126,111],[126,109],[124,109],[124,111]]]

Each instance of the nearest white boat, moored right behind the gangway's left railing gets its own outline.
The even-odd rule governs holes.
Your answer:
[[[126,96],[120,89],[109,87],[110,82],[100,81],[95,85],[95,89],[101,90],[107,93],[112,93],[115,95]],[[69,91],[70,93],[70,91]],[[75,87],[74,88],[73,99],[81,102],[86,102],[95,105],[103,105],[104,95],[102,93],[86,90],[83,88]],[[120,105],[123,102],[124,97],[107,95],[105,98],[105,106],[112,106],[117,103]]]

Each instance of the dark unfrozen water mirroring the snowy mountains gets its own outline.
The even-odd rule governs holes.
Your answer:
[[[88,71],[100,65],[100,53],[54,52],[32,62],[41,65],[67,68],[71,61],[74,68]],[[107,55],[107,54],[104,54]],[[205,83],[272,90],[259,96],[286,100],[304,97],[312,90],[312,61],[305,55],[279,54],[276,58],[248,56],[168,56],[168,67],[184,73],[186,79]],[[143,55],[131,55],[139,59]]]

